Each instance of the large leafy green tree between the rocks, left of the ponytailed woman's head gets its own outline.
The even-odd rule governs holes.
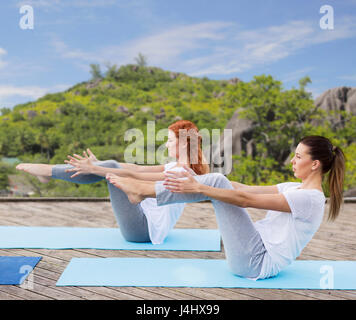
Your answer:
[[[313,120],[322,117],[305,91],[309,78],[300,81],[300,88],[284,90],[280,81],[271,76],[256,76],[240,82],[229,92],[231,103],[238,105],[239,116],[252,121],[254,153],[250,158],[236,157],[237,168],[245,161],[254,161],[259,170],[246,172],[249,182],[268,183],[272,171],[290,175],[289,156],[299,140],[310,134]],[[233,173],[234,174],[234,173]],[[279,177],[279,175],[278,175]]]

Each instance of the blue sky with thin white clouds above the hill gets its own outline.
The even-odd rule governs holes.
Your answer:
[[[30,5],[34,28],[21,29]],[[320,28],[320,7],[334,29]],[[89,65],[134,63],[210,79],[310,76],[314,97],[356,87],[356,0],[7,0],[0,4],[0,108],[90,78]]]

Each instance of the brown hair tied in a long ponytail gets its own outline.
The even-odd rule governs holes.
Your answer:
[[[328,220],[334,221],[340,212],[343,202],[345,177],[345,155],[341,148],[333,146],[328,138],[322,136],[307,136],[300,143],[309,147],[312,160],[319,160],[322,175],[328,173],[327,187],[330,194]]]

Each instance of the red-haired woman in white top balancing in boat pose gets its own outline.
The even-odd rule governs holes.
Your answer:
[[[163,181],[166,171],[186,171],[183,166],[193,175],[209,172],[209,166],[203,163],[201,136],[191,121],[180,120],[169,126],[166,147],[169,157],[175,161],[165,165],[144,166],[115,160],[98,161],[90,149],[87,149],[83,156],[68,156],[66,165],[21,163],[16,169],[37,176],[41,182],[48,182],[53,178],[79,184],[95,183],[112,176],[135,178],[143,183]],[[107,184],[115,218],[127,241],[162,243],[184,210],[184,203],[159,207],[154,198],[132,204],[125,192],[116,188],[109,180]]]

